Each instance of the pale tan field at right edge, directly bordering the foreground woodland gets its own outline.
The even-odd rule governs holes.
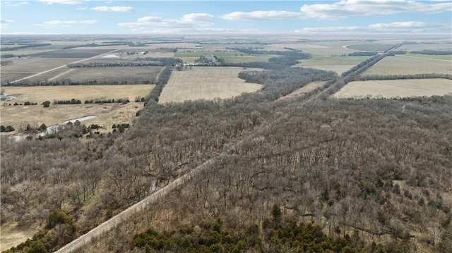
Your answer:
[[[412,79],[349,82],[332,97],[339,99],[423,97],[452,94],[452,80]]]

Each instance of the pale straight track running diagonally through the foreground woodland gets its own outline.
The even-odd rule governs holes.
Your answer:
[[[220,156],[222,156],[222,154],[220,154]],[[78,237],[76,240],[69,242],[69,244],[65,245],[64,247],[61,247],[61,249],[58,249],[55,253],[73,252],[76,249],[83,247],[83,245],[90,243],[94,238],[100,237],[103,233],[107,233],[107,231],[112,230],[119,223],[126,221],[131,216],[133,216],[133,214],[135,214],[137,211],[141,211],[145,206],[148,206],[149,204],[153,204],[158,200],[161,200],[172,190],[175,190],[177,189],[177,187],[184,185],[184,183],[191,180],[191,178],[194,175],[208,168],[208,166],[212,164],[213,161],[214,159],[210,159],[205,163],[201,164],[200,166],[194,168],[189,173],[186,173],[185,175],[182,175],[181,177],[173,180],[165,187],[161,188],[160,190],[157,190],[157,192],[154,192],[149,197],[146,197],[145,199],[141,200],[141,202],[133,204],[133,206],[130,206],[128,209],[121,211],[121,213],[117,214],[113,218],[110,218],[108,221],[105,221],[96,228],[93,228],[88,233],[85,233],[81,237]]]

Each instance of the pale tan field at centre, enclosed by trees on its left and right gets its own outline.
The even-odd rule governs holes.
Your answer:
[[[196,99],[230,98],[242,92],[256,92],[262,85],[247,83],[237,77],[242,68],[195,67],[175,71],[160,94],[159,103]]]

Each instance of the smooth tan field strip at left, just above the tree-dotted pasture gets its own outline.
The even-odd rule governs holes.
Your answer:
[[[3,87],[4,93],[16,97],[9,103],[30,101],[41,104],[43,101],[80,99],[83,103],[90,99],[119,99],[145,97],[154,85],[71,85],[71,86],[35,86],[35,87]],[[5,102],[2,102],[4,104]],[[42,106],[40,106],[42,107]],[[5,107],[1,106],[3,110]],[[1,119],[4,120],[4,111]]]

